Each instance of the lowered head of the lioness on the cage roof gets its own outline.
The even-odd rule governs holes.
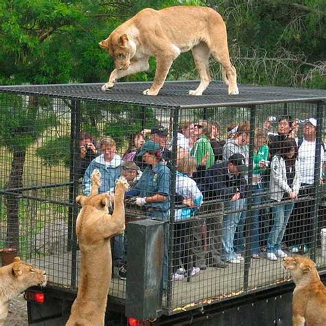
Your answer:
[[[107,39],[98,43],[102,49],[107,50],[114,60],[118,70],[127,70],[132,56],[131,44],[127,34],[111,34]]]

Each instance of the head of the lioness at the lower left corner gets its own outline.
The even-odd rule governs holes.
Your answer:
[[[25,289],[31,286],[46,285],[46,273],[45,270],[39,270],[30,263],[21,261],[19,257],[14,257],[14,262],[11,264],[12,277],[15,283],[23,285]]]

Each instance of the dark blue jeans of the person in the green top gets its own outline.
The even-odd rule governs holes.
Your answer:
[[[264,188],[261,184],[254,184],[252,186],[252,205],[259,206],[263,202],[263,191]],[[261,209],[257,208],[252,212],[252,228],[251,228],[251,253],[259,254],[259,216]]]

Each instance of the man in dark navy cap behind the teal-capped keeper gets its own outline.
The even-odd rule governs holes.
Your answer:
[[[166,128],[161,125],[157,125],[151,129],[150,140],[152,140],[153,142],[157,142],[157,144],[160,145],[159,150],[161,152],[161,158],[169,165],[169,162],[171,160],[171,151],[169,151],[169,149],[166,149],[166,140],[168,138],[168,134],[169,131]],[[139,155],[141,151],[142,149],[140,149],[140,151],[136,153],[134,162],[140,167],[142,171],[144,171],[144,169],[146,169],[147,164],[144,162],[144,160],[142,160],[142,155]]]

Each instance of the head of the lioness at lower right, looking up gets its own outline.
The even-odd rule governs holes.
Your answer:
[[[316,264],[312,259],[303,256],[286,257],[283,260],[285,270],[288,270],[295,283],[299,283],[302,279],[317,278]]]

